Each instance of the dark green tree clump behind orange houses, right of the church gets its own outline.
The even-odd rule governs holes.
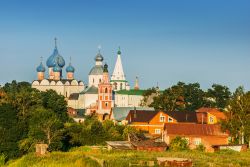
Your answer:
[[[224,110],[230,97],[231,92],[226,86],[213,84],[212,88],[204,91],[199,83],[178,82],[163,92],[155,88],[148,89],[144,93],[142,105],[168,111],[195,111],[200,107],[216,107]]]

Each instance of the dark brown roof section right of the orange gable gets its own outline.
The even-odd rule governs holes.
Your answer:
[[[174,118],[177,122],[197,123],[197,116],[194,111],[164,111],[164,113]]]

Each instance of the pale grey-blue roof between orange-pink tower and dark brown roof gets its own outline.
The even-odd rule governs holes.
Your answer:
[[[112,109],[114,120],[116,121],[122,121],[125,120],[128,116],[128,113],[130,110],[133,110],[134,107],[114,107]],[[145,111],[152,111],[154,108],[148,108],[148,107],[137,107],[137,110],[145,110]]]

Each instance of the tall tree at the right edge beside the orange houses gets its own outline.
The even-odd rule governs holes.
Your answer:
[[[222,126],[230,131],[233,142],[250,144],[250,92],[237,88],[225,113],[228,120],[222,122]]]

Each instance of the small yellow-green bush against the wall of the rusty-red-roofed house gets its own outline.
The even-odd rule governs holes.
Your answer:
[[[177,136],[170,142],[170,149],[174,151],[188,150],[188,141]]]

